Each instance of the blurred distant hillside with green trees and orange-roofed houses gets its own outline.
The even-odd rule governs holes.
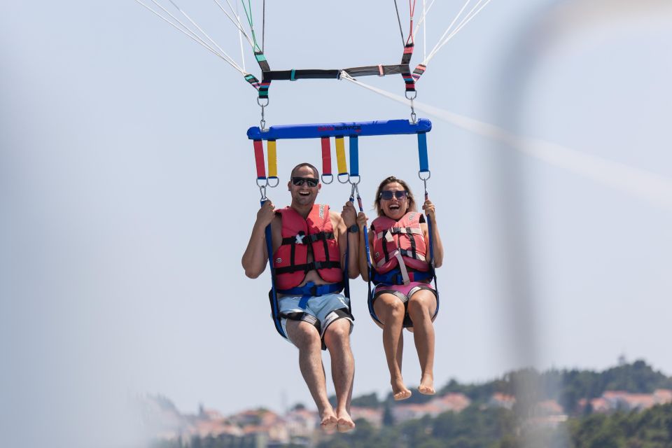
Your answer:
[[[181,414],[140,400],[153,448],[672,448],[672,378],[643,360],[590,370],[521,369],[482,384],[454,379],[427,396],[352,400],[357,428],[325,433],[314,408]]]

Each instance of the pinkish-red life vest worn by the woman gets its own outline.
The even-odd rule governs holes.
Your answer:
[[[405,214],[399,221],[379,216],[371,223],[373,232],[373,269],[379,274],[400,271],[403,283],[416,281],[414,271],[428,272],[425,237],[420,228],[421,218],[417,211]],[[410,268],[410,270],[409,270]],[[426,275],[423,279],[428,278]],[[375,279],[374,279],[375,281]]]

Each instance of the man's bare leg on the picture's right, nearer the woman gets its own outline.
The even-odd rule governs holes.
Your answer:
[[[331,356],[331,376],[336,390],[336,415],[338,430],[346,432],[355,428],[350,416],[355,360],[350,349],[350,321],[340,318],[324,332],[324,343]]]

